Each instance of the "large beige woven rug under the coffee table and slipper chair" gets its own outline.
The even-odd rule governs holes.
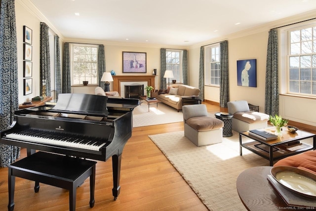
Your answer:
[[[197,147],[184,132],[149,135],[175,169],[210,211],[244,211],[236,189],[240,172],[269,161],[242,149],[239,156],[238,133],[223,137],[222,143]]]

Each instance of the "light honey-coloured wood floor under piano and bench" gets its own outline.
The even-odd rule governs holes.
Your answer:
[[[210,113],[227,109],[205,103]],[[112,160],[98,162],[96,167],[95,205],[89,207],[89,179],[77,189],[78,211],[150,211],[188,210],[203,211],[206,207],[190,186],[169,163],[148,135],[182,131],[183,123],[135,127],[122,154],[120,194],[112,196]],[[25,149],[20,158],[26,157]],[[16,178],[14,211],[66,211],[69,210],[67,190],[40,184],[34,192],[34,182]],[[0,210],[7,210],[7,168],[0,168]]]

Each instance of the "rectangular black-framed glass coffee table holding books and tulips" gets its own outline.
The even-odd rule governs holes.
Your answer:
[[[274,133],[275,127],[267,127],[264,130]],[[250,138],[243,142],[242,137]],[[312,138],[313,146],[303,143],[296,148],[284,149],[283,144],[293,143],[296,141],[306,140]],[[259,145],[258,145],[259,144]],[[291,155],[306,152],[308,150],[316,149],[316,134],[305,132],[303,130],[297,130],[295,133],[290,133],[286,127],[282,128],[282,136],[276,139],[265,141],[260,138],[249,135],[249,131],[239,132],[239,152],[242,156],[242,147],[249,151],[265,158],[270,161],[270,166],[273,166],[273,162],[286,158]]]

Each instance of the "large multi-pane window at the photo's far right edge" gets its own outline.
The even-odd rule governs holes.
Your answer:
[[[316,96],[316,24],[287,30],[287,92]]]

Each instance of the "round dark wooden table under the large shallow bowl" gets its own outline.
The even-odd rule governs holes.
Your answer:
[[[300,210],[288,206],[269,183],[267,175],[272,167],[253,167],[237,177],[237,192],[248,211]]]

